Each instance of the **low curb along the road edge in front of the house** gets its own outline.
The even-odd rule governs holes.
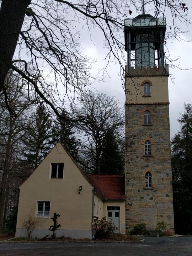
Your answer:
[[[131,240],[131,241],[87,241],[87,242],[65,242],[65,241],[0,241],[0,244],[43,244],[43,243],[61,243],[61,244],[94,244],[94,243],[115,243],[115,244],[127,244],[133,242],[144,242],[145,239]]]

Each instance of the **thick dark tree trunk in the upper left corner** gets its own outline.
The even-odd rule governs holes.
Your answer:
[[[0,92],[10,69],[25,12],[31,0],[2,0],[0,9]]]

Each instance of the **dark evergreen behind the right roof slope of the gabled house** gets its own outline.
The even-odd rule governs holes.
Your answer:
[[[68,117],[65,110],[62,111],[62,116]],[[52,129],[53,144],[62,143],[71,156],[77,159],[77,141],[75,140],[73,128],[74,124],[70,120],[57,118]]]

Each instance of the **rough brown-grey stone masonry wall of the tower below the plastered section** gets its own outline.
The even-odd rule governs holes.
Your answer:
[[[143,124],[143,112],[151,112],[152,125]],[[146,223],[154,230],[165,221],[174,232],[170,127],[168,104],[125,105],[126,117],[126,228]],[[144,156],[144,143],[151,155]],[[145,174],[152,174],[152,188],[145,188]]]

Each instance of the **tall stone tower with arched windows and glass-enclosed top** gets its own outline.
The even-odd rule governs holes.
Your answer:
[[[164,221],[174,232],[165,30],[165,18],[125,20],[126,228]]]

